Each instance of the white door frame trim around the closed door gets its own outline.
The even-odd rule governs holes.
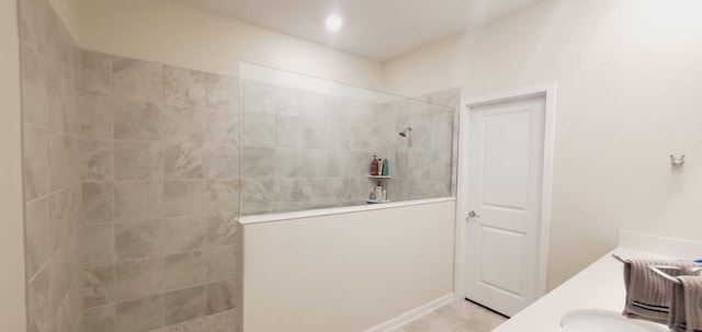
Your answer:
[[[551,203],[553,184],[553,153],[554,153],[554,129],[556,113],[556,82],[534,85],[518,90],[499,92],[480,98],[462,99],[458,113],[458,170],[457,170],[457,196],[456,196],[456,254],[453,278],[453,289],[456,299],[465,298],[466,278],[466,215],[465,199],[468,193],[468,156],[471,137],[471,112],[474,107],[487,104],[509,102],[533,96],[543,96],[546,102],[544,114],[544,160],[542,170],[542,193],[541,193],[541,231],[539,234],[539,276],[536,285],[536,296],[546,294],[546,276],[548,271],[548,247],[551,238]],[[464,149],[465,147],[465,149]]]

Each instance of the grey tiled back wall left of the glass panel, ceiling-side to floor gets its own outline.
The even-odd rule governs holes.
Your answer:
[[[238,331],[238,80],[80,59],[83,331]]]

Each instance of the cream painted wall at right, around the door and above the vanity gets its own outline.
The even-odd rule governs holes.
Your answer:
[[[618,229],[702,240],[702,2],[547,0],[385,64],[386,90],[558,82],[550,287]],[[687,153],[682,170],[668,154]]]

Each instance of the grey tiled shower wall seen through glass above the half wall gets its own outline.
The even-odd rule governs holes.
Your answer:
[[[392,179],[381,182],[390,201],[451,195],[454,107],[254,81],[242,82],[241,99],[242,214],[365,204],[374,154],[389,161]]]

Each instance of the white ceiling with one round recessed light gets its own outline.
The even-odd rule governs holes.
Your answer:
[[[385,61],[539,0],[174,0]],[[343,27],[325,27],[330,14]]]

